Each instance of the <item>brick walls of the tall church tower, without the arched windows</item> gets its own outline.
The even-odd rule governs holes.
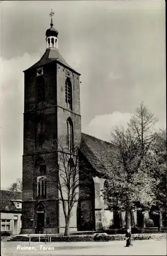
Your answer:
[[[24,145],[23,145],[23,223],[22,233],[35,232],[37,216],[37,177],[39,170],[35,163],[41,157],[46,164],[46,198],[40,199],[44,205],[44,231],[58,232],[59,217],[63,216],[58,203],[58,153],[57,141],[66,143],[67,118],[71,117],[74,139],[81,138],[79,76],[71,73],[72,111],[65,105],[65,81],[67,70],[58,63],[43,66],[45,79],[45,102],[43,106],[36,100],[36,69],[24,73]],[[60,141],[59,141],[60,142]],[[63,144],[62,144],[63,145]],[[76,208],[76,207],[74,207]],[[62,221],[62,219],[61,219]],[[72,212],[71,226],[76,227],[76,209]]]

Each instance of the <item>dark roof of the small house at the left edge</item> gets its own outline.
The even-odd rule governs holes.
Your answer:
[[[22,193],[12,190],[1,190],[1,210],[18,211],[12,201],[22,200]]]

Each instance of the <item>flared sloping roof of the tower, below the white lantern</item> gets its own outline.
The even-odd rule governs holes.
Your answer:
[[[33,69],[33,68],[38,68],[38,67],[43,66],[47,63],[51,63],[52,61],[57,61],[57,62],[63,64],[63,66],[65,66],[65,67],[69,68],[70,70],[74,71],[75,73],[79,74],[70,65],[68,65],[68,63],[65,61],[65,59],[60,54],[60,52],[55,48],[46,49],[42,58],[27,70],[30,70],[30,69]]]

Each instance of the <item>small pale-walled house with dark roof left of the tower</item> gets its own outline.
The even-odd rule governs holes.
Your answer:
[[[1,231],[19,234],[21,229],[22,193],[1,190]]]

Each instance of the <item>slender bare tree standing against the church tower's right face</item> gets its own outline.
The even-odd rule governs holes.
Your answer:
[[[62,140],[60,139],[60,141]],[[57,145],[58,168],[56,171],[59,173],[59,199],[63,206],[65,218],[64,236],[68,236],[71,213],[74,205],[78,202],[79,188],[85,183],[88,184],[90,182],[89,177],[91,174],[84,161],[79,159],[80,143],[72,143],[69,148],[61,142],[57,143]],[[46,183],[49,184],[50,180],[46,181]]]

